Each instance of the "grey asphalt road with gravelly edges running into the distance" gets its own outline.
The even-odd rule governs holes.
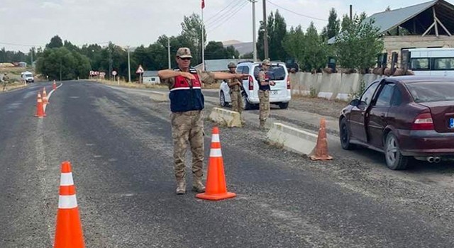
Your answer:
[[[454,247],[453,191],[371,173],[358,156],[373,153],[313,164],[253,126],[221,128],[238,196],[201,201],[175,195],[168,103],[65,81],[40,119],[37,90],[0,94],[0,247],[52,247],[65,160],[87,247]]]

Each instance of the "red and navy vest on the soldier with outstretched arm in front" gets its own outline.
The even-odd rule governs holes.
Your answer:
[[[174,69],[180,72],[180,69]],[[195,79],[191,80],[182,76],[175,77],[175,84],[170,89],[170,111],[186,112],[201,111],[204,109],[204,95],[201,94],[201,81],[196,69],[189,68],[189,72],[194,75]]]

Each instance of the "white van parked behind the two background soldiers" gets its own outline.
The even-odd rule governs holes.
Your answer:
[[[248,79],[243,79],[243,106],[245,109],[257,108],[258,103],[258,72],[262,67],[262,62],[239,62],[236,65],[236,72],[248,74]],[[287,108],[292,99],[290,90],[290,79],[287,67],[284,62],[271,62],[270,81],[275,81],[276,85],[270,86],[270,103],[277,104],[279,108]],[[231,103],[230,88],[224,81],[219,87],[219,103],[227,106]]]

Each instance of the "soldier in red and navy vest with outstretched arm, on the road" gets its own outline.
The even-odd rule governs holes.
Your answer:
[[[175,177],[177,179],[177,194],[186,193],[186,171],[184,158],[187,144],[192,152],[192,190],[204,192],[205,186],[201,179],[204,162],[203,118],[204,96],[201,83],[213,84],[216,79],[240,79],[243,74],[222,72],[201,72],[190,67],[191,51],[187,47],[177,50],[176,69],[163,69],[157,72],[158,77],[170,89],[170,111],[172,124],[172,139],[174,144]]]

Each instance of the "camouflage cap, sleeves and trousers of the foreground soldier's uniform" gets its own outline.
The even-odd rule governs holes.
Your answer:
[[[182,56],[179,52],[180,50],[178,50],[177,56]],[[194,69],[192,69],[192,71],[194,71]],[[213,84],[215,81],[214,75],[211,72],[196,70],[196,74],[199,76],[200,81],[205,84]],[[187,79],[187,81],[190,82],[189,79]],[[175,78],[163,79],[162,83],[167,84],[169,89],[173,89],[175,86]],[[190,84],[192,85],[192,83]],[[174,145],[173,158],[175,164],[175,178],[177,179],[177,193],[185,193],[186,168],[184,159],[186,157],[188,143],[192,152],[192,190],[204,192],[205,187],[201,181],[204,175],[204,122],[202,111],[172,112],[170,115],[170,123],[172,125],[172,139]]]

